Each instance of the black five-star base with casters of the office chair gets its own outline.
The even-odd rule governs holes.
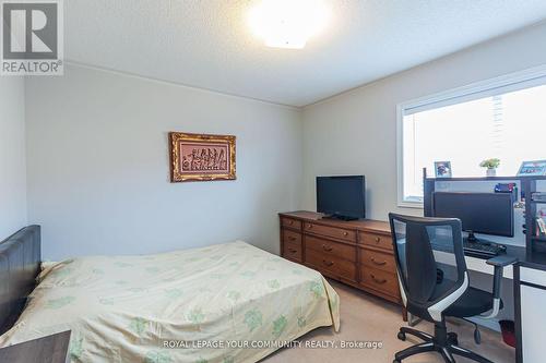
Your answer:
[[[492,363],[488,359],[473,351],[459,347],[456,334],[448,332],[444,322],[435,324],[434,336],[408,327],[400,328],[397,336],[399,339],[403,341],[406,340],[406,335],[414,336],[423,340],[423,342],[397,352],[395,354],[393,363],[401,363],[402,360],[408,356],[426,352],[438,352],[442,355],[443,360],[447,363],[455,362],[453,355],[464,356],[479,363]]]

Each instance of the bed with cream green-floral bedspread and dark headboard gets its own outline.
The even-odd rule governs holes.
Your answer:
[[[33,287],[38,263],[37,226],[0,244],[10,281],[0,347],[71,330],[72,362],[257,362],[314,328],[340,327],[339,295],[319,273],[241,241],[67,259]]]

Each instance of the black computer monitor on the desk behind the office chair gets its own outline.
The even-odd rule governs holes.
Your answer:
[[[492,235],[513,237],[512,193],[435,192],[432,216],[459,218],[463,230]]]

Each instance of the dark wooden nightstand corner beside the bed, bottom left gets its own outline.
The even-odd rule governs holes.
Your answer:
[[[0,362],[67,363],[70,330],[0,349]]]

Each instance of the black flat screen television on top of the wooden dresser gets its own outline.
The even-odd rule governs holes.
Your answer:
[[[364,176],[317,177],[317,211],[344,220],[366,218]]]

